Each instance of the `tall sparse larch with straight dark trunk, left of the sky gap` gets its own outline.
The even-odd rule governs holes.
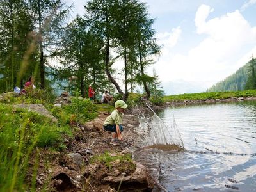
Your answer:
[[[40,87],[44,88],[45,64],[48,58],[56,54],[56,47],[62,39],[70,6],[61,0],[31,0],[29,3],[38,35]]]

